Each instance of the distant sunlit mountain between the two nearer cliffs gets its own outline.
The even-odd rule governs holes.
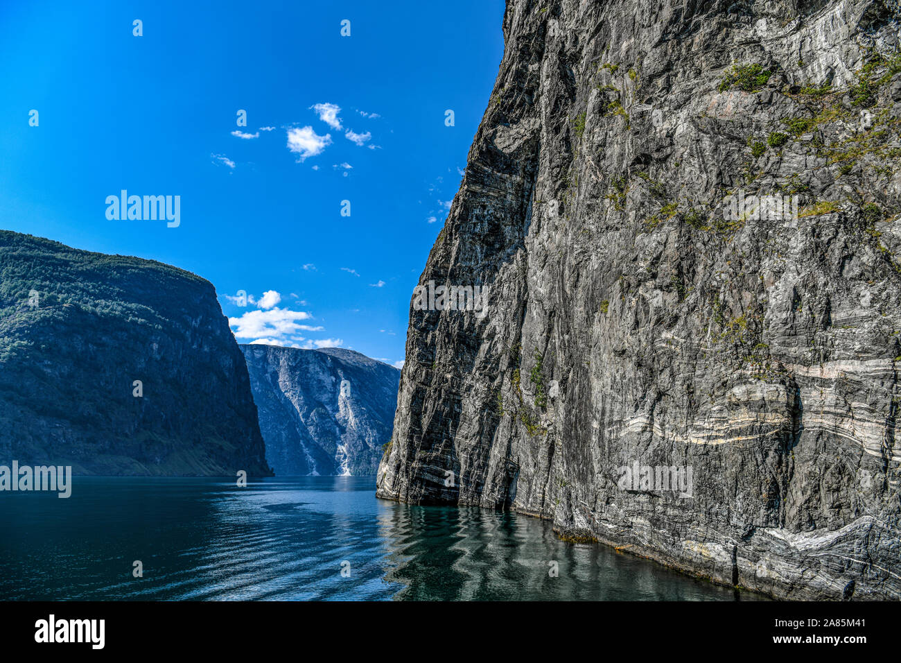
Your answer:
[[[343,348],[241,351],[277,475],[376,474],[391,439],[400,371]]]

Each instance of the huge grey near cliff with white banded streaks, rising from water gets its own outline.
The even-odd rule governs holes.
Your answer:
[[[897,16],[510,0],[420,280],[487,287],[487,316],[411,307],[378,495],[901,598]]]

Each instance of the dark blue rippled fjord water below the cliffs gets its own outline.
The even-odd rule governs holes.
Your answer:
[[[0,528],[0,600],[757,598],[527,516],[378,500],[373,477],[75,477],[0,494]]]

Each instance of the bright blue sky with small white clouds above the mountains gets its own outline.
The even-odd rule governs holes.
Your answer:
[[[402,360],[503,0],[75,5],[0,3],[0,227],[196,272],[242,343]],[[179,226],[107,219],[122,189]]]

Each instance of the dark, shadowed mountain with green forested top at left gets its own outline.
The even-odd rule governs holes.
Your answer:
[[[0,458],[76,474],[271,474],[212,284],[0,231]]]

